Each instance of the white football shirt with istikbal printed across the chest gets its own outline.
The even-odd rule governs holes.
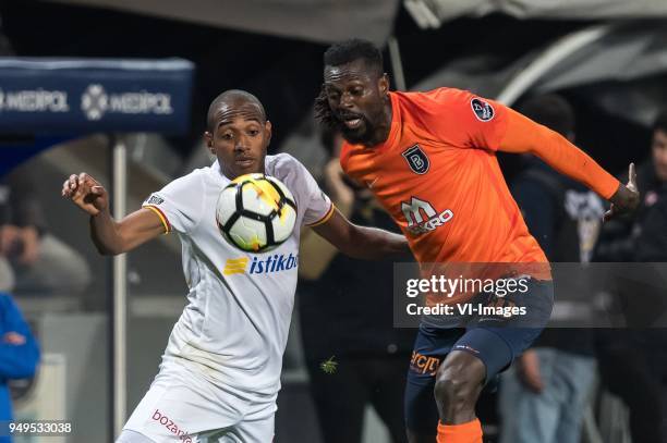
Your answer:
[[[300,229],[324,222],[333,212],[329,198],[296,159],[279,153],[267,156],[265,164],[266,174],[290,189],[298,208],[292,235],[268,253],[237,249],[218,231],[216,202],[230,180],[217,161],[174,180],[143,205],[179,235],[190,288],[162,365],[187,366],[216,385],[264,399],[280,389]]]

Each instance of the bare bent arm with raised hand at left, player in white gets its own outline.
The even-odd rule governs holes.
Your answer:
[[[160,219],[148,209],[132,212],[119,222],[113,220],[107,190],[85,172],[70,175],[61,194],[90,216],[90,237],[102,255],[126,253],[165,232]]]

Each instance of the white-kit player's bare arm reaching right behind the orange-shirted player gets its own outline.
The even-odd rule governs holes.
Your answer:
[[[338,209],[335,209],[333,216],[326,223],[314,226],[313,231],[353,258],[380,260],[407,257],[410,254],[404,236],[353,224]]]

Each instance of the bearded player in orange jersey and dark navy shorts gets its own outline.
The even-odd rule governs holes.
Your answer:
[[[634,167],[622,185],[559,134],[469,91],[390,91],[381,53],[371,42],[333,45],[324,62],[317,116],[343,134],[344,172],[373,190],[420,263],[543,264],[527,275],[532,322],[496,328],[477,318],[460,328],[422,320],[405,390],[409,439],[481,443],[475,404],[483,386],[536,339],[553,305],[547,260],[496,152],[536,155],[587,185],[611,201],[605,219],[636,207]]]

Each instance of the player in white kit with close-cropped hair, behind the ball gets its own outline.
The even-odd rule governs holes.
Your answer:
[[[208,149],[217,157],[151,194],[114,221],[105,188],[71,175],[62,195],[90,216],[98,250],[116,255],[161,234],[182,244],[187,306],[173,327],[159,373],[117,440],[122,443],[247,442],[274,436],[282,353],[294,304],[302,225],[364,259],[409,254],[403,236],[351,224],[313,176],[286,153],[266,156],[271,124],[256,97],[229,90],[208,111]],[[296,226],[278,248],[246,254],[216,225],[220,190],[239,175],[279,179],[296,200]]]

